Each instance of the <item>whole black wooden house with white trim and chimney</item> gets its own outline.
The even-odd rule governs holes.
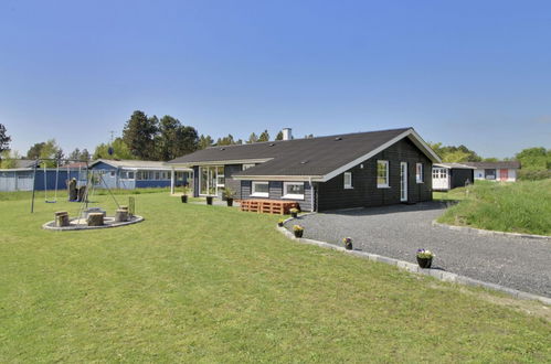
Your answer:
[[[413,128],[211,147],[168,164],[192,168],[194,196],[297,201],[303,211],[432,200],[436,153]]]

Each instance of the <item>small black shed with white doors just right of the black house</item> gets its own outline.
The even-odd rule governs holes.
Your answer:
[[[475,168],[463,163],[433,164],[433,190],[448,191],[475,182]]]

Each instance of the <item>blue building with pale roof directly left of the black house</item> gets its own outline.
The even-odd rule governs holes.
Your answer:
[[[134,190],[171,185],[172,169],[165,162],[98,159],[91,163],[91,170],[96,175],[93,180],[98,189],[108,186],[109,189]],[[174,172],[174,185],[182,185],[188,182],[193,171],[181,168]]]

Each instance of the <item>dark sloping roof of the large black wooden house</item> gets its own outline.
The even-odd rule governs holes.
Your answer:
[[[264,162],[235,175],[326,175],[406,131],[414,132],[412,128],[402,128],[310,139],[211,147],[177,158],[169,163],[193,165],[204,162],[258,160]]]

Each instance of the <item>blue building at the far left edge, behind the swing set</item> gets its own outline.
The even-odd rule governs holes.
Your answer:
[[[68,179],[75,178],[80,183],[86,183],[85,169],[86,165],[83,168],[73,163],[44,170],[40,161],[18,160],[15,168],[0,169],[0,191],[32,191],[33,185],[36,191],[64,190]]]

